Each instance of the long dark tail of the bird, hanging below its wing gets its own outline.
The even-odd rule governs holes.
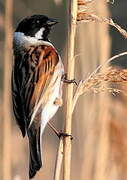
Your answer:
[[[28,129],[28,138],[29,138],[29,178],[33,178],[37,171],[42,166],[41,161],[41,147],[40,147],[40,129],[35,129],[34,125]]]

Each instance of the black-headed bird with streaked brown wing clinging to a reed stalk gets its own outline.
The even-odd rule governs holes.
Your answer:
[[[45,15],[28,16],[13,35],[12,104],[22,136],[28,136],[29,179],[43,165],[42,135],[62,100],[64,66],[49,40],[57,23]]]

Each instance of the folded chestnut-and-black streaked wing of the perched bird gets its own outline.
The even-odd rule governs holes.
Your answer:
[[[53,47],[30,47],[23,58],[15,58],[12,76],[13,108],[17,123],[25,135],[34,107],[50,84],[59,61]]]

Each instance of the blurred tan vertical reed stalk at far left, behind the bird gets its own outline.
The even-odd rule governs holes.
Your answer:
[[[11,180],[11,109],[10,74],[12,60],[12,6],[13,0],[5,1],[4,45],[4,93],[3,93],[3,180]]]

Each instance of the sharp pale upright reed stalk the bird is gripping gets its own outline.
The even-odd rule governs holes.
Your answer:
[[[68,33],[68,59],[67,59],[67,79],[74,78],[74,44],[77,19],[77,0],[69,2],[69,33]],[[66,115],[65,115],[65,133],[71,134],[72,127],[72,98],[73,84],[68,84],[66,89]],[[64,138],[64,171],[63,179],[70,180],[71,169],[71,138]]]

